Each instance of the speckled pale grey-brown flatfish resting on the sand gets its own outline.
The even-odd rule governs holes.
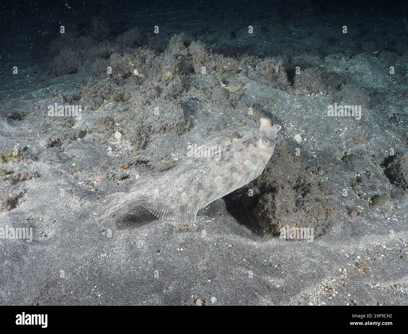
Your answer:
[[[133,203],[165,221],[193,223],[198,210],[245,186],[264,170],[275,150],[275,135],[281,126],[272,125],[266,118],[260,122],[259,128],[227,136],[216,146],[213,157],[186,159],[163,173],[141,177],[128,193],[109,195],[96,220],[104,222]]]

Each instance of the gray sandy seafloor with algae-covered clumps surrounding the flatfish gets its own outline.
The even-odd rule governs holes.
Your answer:
[[[0,304],[408,304],[403,15],[170,5],[1,21],[0,227],[32,228],[33,240],[0,239]],[[328,117],[335,102],[361,105],[361,119]],[[81,105],[81,119],[49,117],[55,103]],[[266,174],[193,226],[137,207],[95,223],[106,195],[261,117],[282,126]],[[286,224],[314,227],[313,242],[280,239]]]

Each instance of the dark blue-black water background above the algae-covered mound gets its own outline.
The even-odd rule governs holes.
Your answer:
[[[330,26],[335,21],[336,26],[345,22],[374,30],[373,22],[378,20],[382,31],[397,29],[408,33],[407,6],[406,1],[381,0],[5,1],[0,4],[0,62],[16,58],[15,55],[22,58],[30,48],[35,48],[38,54],[58,37],[61,24],[70,22],[81,27],[93,17],[103,18],[116,35],[133,27],[151,29],[152,19],[156,20],[156,17],[157,24],[166,24],[167,15],[180,22],[194,22],[194,13],[201,17],[204,14],[204,20],[208,17],[208,22],[214,20],[213,13],[221,13],[223,23],[229,21],[231,26],[240,20],[246,24],[264,19],[273,24],[274,18],[281,24],[296,25],[298,20],[307,18],[310,30],[314,24]],[[132,14],[138,15],[138,19],[133,19]],[[146,20],[141,19],[141,15]],[[388,22],[393,23],[393,28]],[[217,22],[211,24],[216,27]]]

